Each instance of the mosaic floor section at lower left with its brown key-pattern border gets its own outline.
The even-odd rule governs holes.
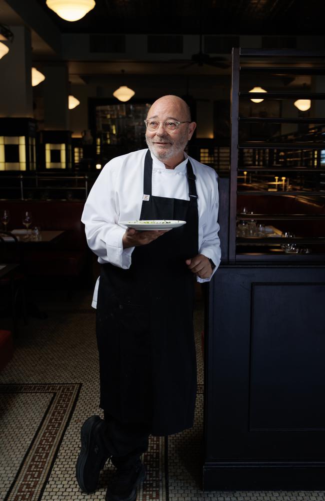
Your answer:
[[[41,499],[65,430],[73,414],[80,387],[81,384],[0,385],[3,436],[8,439],[11,435],[10,443],[16,442],[18,448],[19,445],[21,446],[24,435],[19,436],[17,440],[17,433],[20,434],[28,424],[28,420],[25,419],[26,406],[29,406],[29,415],[34,422],[34,427],[36,426],[33,437],[31,438],[28,434],[27,440],[25,437],[24,446],[22,450],[20,449],[22,453],[26,450],[23,457],[16,454],[14,447],[9,449],[5,446],[5,442],[1,443],[2,461],[5,462],[8,472],[5,479],[8,489],[4,501],[19,498]],[[39,398],[40,395],[41,398]],[[22,400],[24,400],[23,406]],[[43,404],[42,410],[39,404]],[[19,420],[22,420],[24,426],[20,428],[12,426],[13,422]],[[27,428],[24,433],[26,431],[30,432],[30,429]],[[15,471],[16,474],[14,474]]]

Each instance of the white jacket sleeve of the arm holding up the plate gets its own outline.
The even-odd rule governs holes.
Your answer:
[[[121,167],[120,162],[120,158],[114,158],[103,167],[84,204],[81,221],[88,246],[98,256],[98,261],[127,269],[134,247],[123,249],[126,228],[118,224],[116,171]]]

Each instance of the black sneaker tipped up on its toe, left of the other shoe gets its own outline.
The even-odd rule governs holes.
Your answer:
[[[100,470],[111,456],[103,444],[105,422],[99,416],[91,416],[81,428],[81,450],[75,465],[75,476],[83,492],[93,492],[98,483]]]

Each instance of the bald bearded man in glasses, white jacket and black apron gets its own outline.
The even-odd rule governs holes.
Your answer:
[[[95,490],[110,457],[117,472],[106,501],[135,500],[149,434],[193,424],[194,279],[208,281],[220,262],[216,174],[184,153],[196,126],[186,103],[161,97],[145,124],[148,150],[108,162],[82,214],[101,264],[93,306],[104,419],[81,428],[76,477],[83,491]],[[186,223],[169,231],[119,223],[134,219]]]

